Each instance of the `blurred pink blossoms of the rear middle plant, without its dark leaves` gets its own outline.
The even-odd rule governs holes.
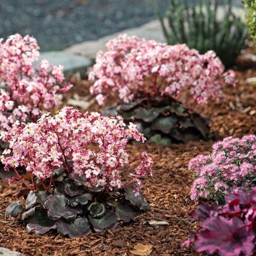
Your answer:
[[[186,45],[167,45],[135,36],[119,35],[97,53],[89,74],[95,81],[91,93],[102,105],[108,97],[122,102],[157,96],[179,99],[186,87],[193,100],[206,104],[219,99],[224,84],[236,84],[234,71],[224,66],[213,51],[200,55]]]

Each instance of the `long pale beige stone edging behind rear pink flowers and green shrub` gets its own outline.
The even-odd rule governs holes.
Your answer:
[[[239,7],[233,7],[233,12],[238,17],[241,17],[242,20],[245,20],[244,9]],[[225,17],[226,11],[224,7],[219,7],[218,11],[218,19],[221,20]],[[165,20],[167,22],[167,20]],[[99,50],[105,51],[105,44],[115,37],[117,37],[120,33],[126,33],[128,35],[136,35],[138,37],[144,37],[147,39],[157,40],[158,42],[166,42],[166,38],[162,33],[161,25],[159,20],[152,20],[151,22],[142,25],[141,27],[137,27],[135,29],[126,29],[118,33],[113,33],[112,35],[107,35],[106,37],[102,37],[99,40],[95,41],[87,41],[83,43],[78,43],[67,48],[66,52],[74,53],[77,55],[82,55],[86,58],[94,60],[96,54]]]

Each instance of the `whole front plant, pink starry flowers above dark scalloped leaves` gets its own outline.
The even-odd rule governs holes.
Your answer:
[[[25,187],[20,195],[27,198],[25,206],[14,201],[6,214],[20,214],[27,230],[37,234],[57,229],[69,237],[134,220],[140,210],[150,210],[139,179],[152,175],[152,160],[142,152],[132,161],[133,172],[121,179],[131,164],[130,139],[145,141],[133,123],[125,127],[119,116],[82,114],[71,107],[54,117],[46,113],[37,123],[14,124],[1,161],[6,171],[14,169],[9,182],[19,180]],[[19,166],[27,171],[24,177]]]

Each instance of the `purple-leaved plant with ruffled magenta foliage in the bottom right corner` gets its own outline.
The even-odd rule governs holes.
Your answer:
[[[220,256],[251,256],[256,249],[256,188],[227,195],[226,204],[205,203],[190,215],[201,225],[183,245]]]

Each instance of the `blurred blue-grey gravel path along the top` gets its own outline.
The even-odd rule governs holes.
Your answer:
[[[157,2],[164,12],[167,0]],[[37,38],[43,51],[96,40],[153,19],[156,16],[150,0],[0,1],[0,37],[30,34]]]

